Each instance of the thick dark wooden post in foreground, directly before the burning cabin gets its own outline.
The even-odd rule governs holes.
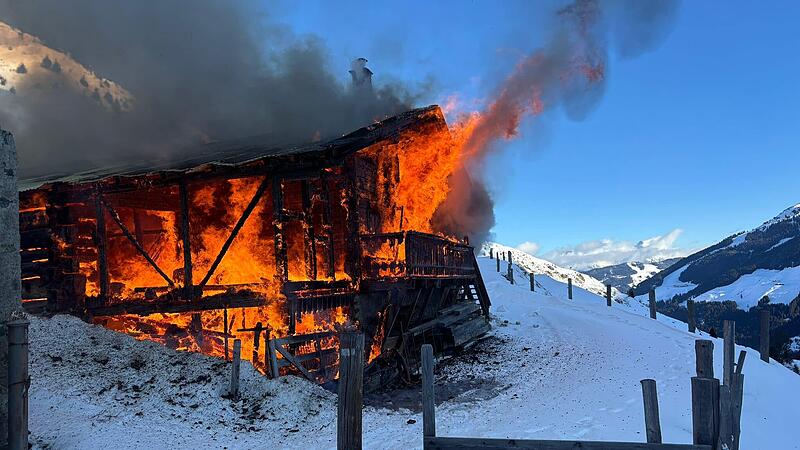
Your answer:
[[[364,334],[339,336],[339,405],[336,447],[361,449],[361,408],[364,383]]]

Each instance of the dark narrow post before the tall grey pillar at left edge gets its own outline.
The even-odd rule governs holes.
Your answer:
[[[8,333],[8,448],[28,450],[28,325],[6,323]]]

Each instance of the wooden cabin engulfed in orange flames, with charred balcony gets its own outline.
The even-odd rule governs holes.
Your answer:
[[[24,303],[219,356],[241,339],[265,372],[316,381],[357,327],[371,370],[400,373],[489,329],[473,248],[431,226],[451,146],[431,106],[327,143],[23,181]]]

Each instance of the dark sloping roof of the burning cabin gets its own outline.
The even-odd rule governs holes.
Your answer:
[[[430,120],[439,121],[445,125],[444,116],[437,105],[412,109],[326,142],[291,145],[281,143],[273,135],[214,142],[187,147],[171,154],[169,158],[160,160],[125,161],[122,164],[93,168],[83,172],[54,173],[23,178],[19,181],[19,190],[27,191],[57,182],[90,183],[117,176],[137,177],[151,174],[191,173],[201,168],[203,170],[209,168],[235,170],[237,167],[253,163],[290,157],[345,156],[382,140],[396,137],[411,126]]]

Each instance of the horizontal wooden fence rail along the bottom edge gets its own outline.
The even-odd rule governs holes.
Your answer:
[[[710,445],[648,444],[645,442],[540,441],[462,437],[425,437],[425,450],[527,448],[535,450],[712,450]]]

